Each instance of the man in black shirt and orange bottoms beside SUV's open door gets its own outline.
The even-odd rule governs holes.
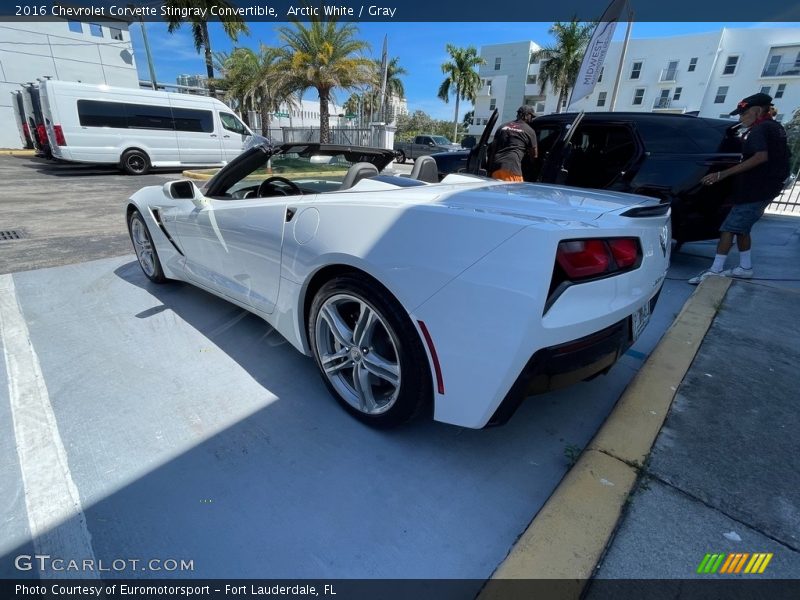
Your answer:
[[[536,113],[530,106],[520,106],[517,120],[501,125],[489,148],[487,171],[494,179],[523,181],[522,158],[527,153],[536,158],[536,132],[531,127]]]

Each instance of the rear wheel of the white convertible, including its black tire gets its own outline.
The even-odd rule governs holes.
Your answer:
[[[374,281],[356,273],[330,280],[314,296],[309,317],[308,337],[322,380],[351,415],[387,429],[432,405],[428,357],[417,330],[400,303]],[[340,319],[338,337],[332,317]],[[356,338],[361,343],[354,343]]]

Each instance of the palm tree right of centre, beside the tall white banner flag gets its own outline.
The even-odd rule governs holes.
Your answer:
[[[531,54],[531,61],[539,60],[539,93],[544,94],[549,83],[558,92],[558,112],[569,97],[581,69],[581,61],[595,23],[579,23],[575,17],[569,23],[553,23],[550,33],[556,43]]]

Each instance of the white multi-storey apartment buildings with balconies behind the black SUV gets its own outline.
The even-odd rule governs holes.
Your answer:
[[[633,32],[636,24],[633,25]],[[721,31],[654,39],[631,39],[619,72],[622,42],[612,42],[592,94],[571,110],[653,111],[728,117],[742,98],[765,92],[774,98],[784,123],[800,107],[800,28],[722,29]],[[539,65],[523,64],[538,46],[533,42],[481,48],[484,86],[475,105],[475,120],[483,123],[496,105],[500,122],[512,120],[520,104],[537,114],[557,112],[557,94],[538,95]],[[525,84],[521,82],[525,78]],[[478,133],[483,125],[473,125]]]

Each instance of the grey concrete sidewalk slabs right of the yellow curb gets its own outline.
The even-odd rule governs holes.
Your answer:
[[[798,305],[795,290],[731,283],[596,579],[800,577]],[[697,573],[709,553],[716,573]],[[729,553],[751,555],[738,574],[721,574]],[[773,556],[746,575],[754,553]]]

